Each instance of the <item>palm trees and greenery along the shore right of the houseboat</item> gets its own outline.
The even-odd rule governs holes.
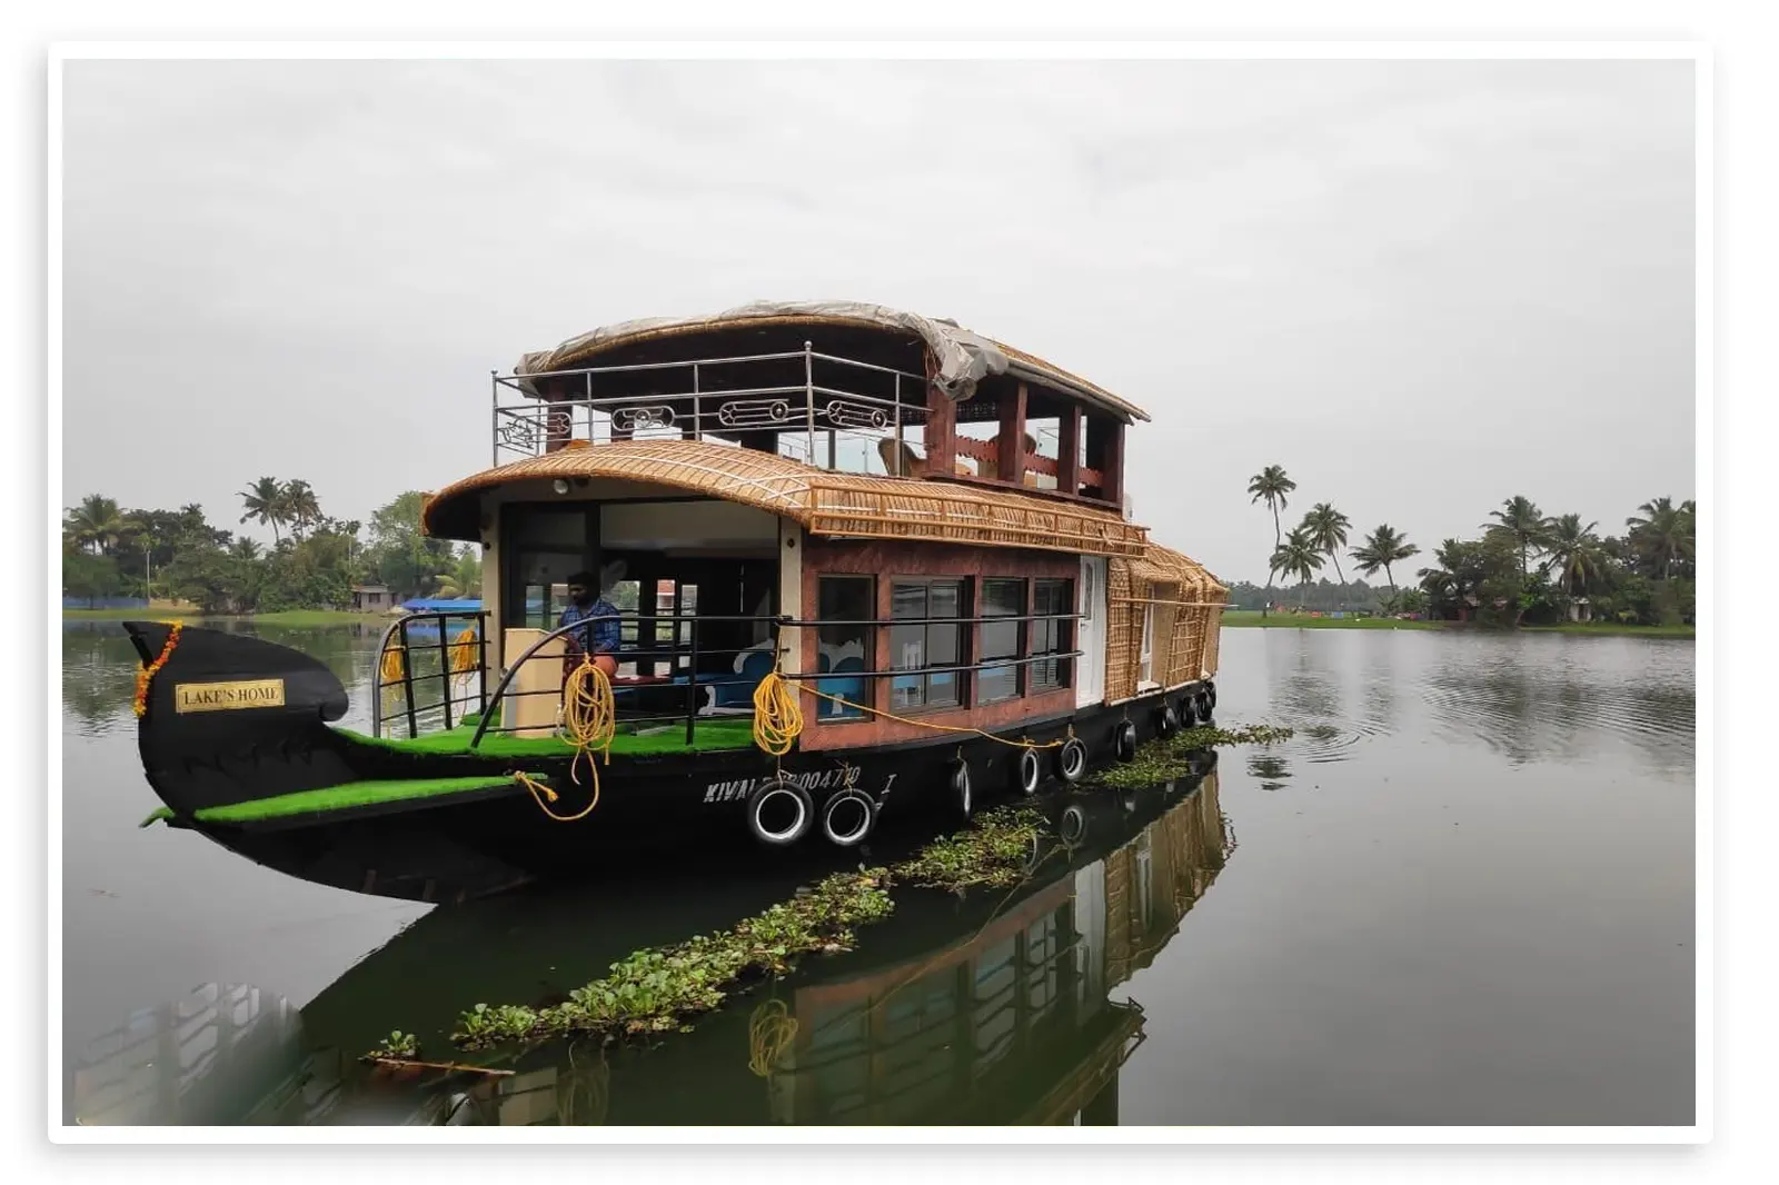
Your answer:
[[[1421,555],[1389,523],[1348,548],[1352,521],[1327,502],[1311,507],[1284,530],[1281,511],[1297,489],[1283,466],[1268,464],[1249,479],[1251,502],[1272,512],[1274,546],[1267,587],[1238,582],[1229,600],[1263,614],[1292,605],[1308,610],[1423,614],[1480,625],[1551,625],[1592,619],[1626,625],[1692,623],[1695,605],[1695,521],[1692,498],[1651,498],[1624,520],[1622,536],[1601,536],[1599,523],[1580,514],[1544,514],[1516,495],[1491,511],[1475,539],[1450,537],[1432,552],[1432,564],[1414,569],[1414,584],[1398,587],[1397,566]],[[1340,564],[1347,548],[1357,571],[1384,573],[1386,585],[1348,584]],[[1332,562],[1336,580],[1318,580]],[[1284,576],[1292,584],[1279,585]]]

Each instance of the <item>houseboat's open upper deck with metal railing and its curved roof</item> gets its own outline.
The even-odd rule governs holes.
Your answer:
[[[628,322],[493,375],[496,466],[571,439],[699,439],[1115,509],[1124,427],[1146,418],[1032,354],[875,304]]]

